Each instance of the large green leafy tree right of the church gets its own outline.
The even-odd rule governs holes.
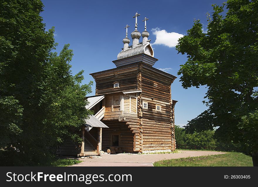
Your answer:
[[[228,11],[223,17],[225,5]],[[219,126],[216,135],[225,142],[241,142],[257,159],[258,124],[243,122],[242,117],[254,113],[258,103],[258,1],[228,0],[213,5],[213,10],[207,16],[207,33],[196,20],[179,39],[176,49],[188,60],[178,75],[185,89],[208,87],[205,103],[214,114],[213,125]]]

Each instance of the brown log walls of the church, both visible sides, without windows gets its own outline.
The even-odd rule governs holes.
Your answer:
[[[118,68],[95,73],[93,77],[96,81],[96,95],[142,90],[135,99],[129,99],[126,94],[121,96],[124,105],[120,113],[118,107],[121,106],[112,108],[112,99],[105,96],[106,112],[102,121],[110,128],[103,128],[104,151],[111,146],[111,134],[119,134],[119,146],[125,152],[175,149],[175,102],[171,100],[174,76],[138,63],[123,70]],[[116,81],[119,82],[119,88],[113,88]],[[148,109],[142,108],[142,101],[148,102]],[[131,107],[130,103],[137,107]],[[156,104],[161,106],[160,111],[156,111]],[[133,115],[132,112],[136,113]]]

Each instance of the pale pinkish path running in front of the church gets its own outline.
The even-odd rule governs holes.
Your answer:
[[[160,160],[224,153],[218,151],[182,151],[182,153],[173,154],[103,154],[99,158],[80,159],[83,162],[72,166],[153,166],[153,162]]]

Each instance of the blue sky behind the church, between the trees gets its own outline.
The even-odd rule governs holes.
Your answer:
[[[212,4],[224,1],[65,1],[43,0],[41,13],[46,29],[55,26],[55,41],[59,43],[57,52],[69,43],[74,51],[71,62],[72,73],[84,70],[84,82],[94,79],[89,73],[115,68],[112,63],[123,47],[124,27],[128,24],[128,37],[134,30],[136,12],[138,31],[144,30],[147,21],[151,43],[154,43],[154,57],[159,59],[153,66],[163,69],[178,78],[172,84],[172,99],[177,100],[175,124],[184,126],[206,109],[203,105],[205,87],[183,89],[177,71],[187,60],[186,55],[177,54],[173,42],[178,36],[186,35],[193,25],[193,19],[200,19],[206,27],[206,13],[212,13]],[[204,28],[205,31],[205,28]],[[163,38],[168,38],[164,40]],[[132,39],[130,38],[131,42]],[[140,38],[141,41],[141,38]],[[129,44],[131,45],[131,43]],[[95,95],[95,82],[92,87]]]

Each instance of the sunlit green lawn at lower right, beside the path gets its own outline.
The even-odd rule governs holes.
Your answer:
[[[242,153],[196,156],[153,163],[154,166],[253,166],[252,157]]]

